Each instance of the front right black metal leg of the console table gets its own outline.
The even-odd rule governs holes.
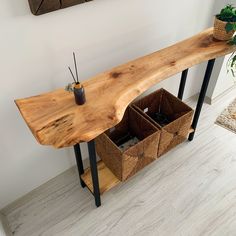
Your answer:
[[[189,135],[189,138],[188,138],[189,141],[192,141],[193,138],[194,138],[194,134],[195,134],[195,131],[196,131],[196,128],[197,128],[197,123],[198,123],[198,120],[199,120],[199,117],[200,117],[200,114],[201,114],[202,105],[203,105],[204,100],[205,100],[205,96],[206,96],[207,88],[208,88],[208,85],[209,85],[209,82],[210,82],[210,78],[211,78],[211,74],[212,74],[212,71],[213,71],[214,64],[215,64],[215,59],[212,59],[212,60],[208,61],[206,73],[205,73],[204,80],[203,80],[203,83],[202,83],[202,88],[201,88],[201,91],[200,91],[200,94],[199,94],[197,107],[196,107],[196,111],[195,111],[194,118],[193,118],[193,123],[192,123],[192,128],[194,129],[194,132]]]

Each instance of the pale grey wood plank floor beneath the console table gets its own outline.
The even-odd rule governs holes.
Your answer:
[[[185,142],[102,196],[79,185],[73,168],[4,209],[16,236],[235,236],[236,135],[214,124],[236,97],[205,105]],[[193,105],[191,103],[190,105]]]

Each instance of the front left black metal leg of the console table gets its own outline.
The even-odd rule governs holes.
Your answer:
[[[97,159],[94,140],[88,142],[90,169],[93,181],[93,195],[97,207],[101,206],[100,189],[98,181]]]

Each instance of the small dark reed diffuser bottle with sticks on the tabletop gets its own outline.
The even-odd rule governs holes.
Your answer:
[[[73,58],[74,58],[74,64],[75,64],[76,77],[74,76],[71,68],[68,66],[68,69],[71,73],[71,76],[72,76],[74,82],[69,83],[65,87],[65,90],[68,92],[74,93],[75,102],[77,105],[83,105],[86,102],[85,91],[84,91],[83,85],[79,82],[78,69],[77,69],[76,57],[75,57],[74,52],[73,52]]]

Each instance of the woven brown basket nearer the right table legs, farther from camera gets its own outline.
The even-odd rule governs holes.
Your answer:
[[[132,106],[161,129],[158,157],[186,140],[191,127],[193,110],[171,93],[160,89],[134,102]],[[168,117],[170,123],[160,126],[153,119],[157,112]]]

